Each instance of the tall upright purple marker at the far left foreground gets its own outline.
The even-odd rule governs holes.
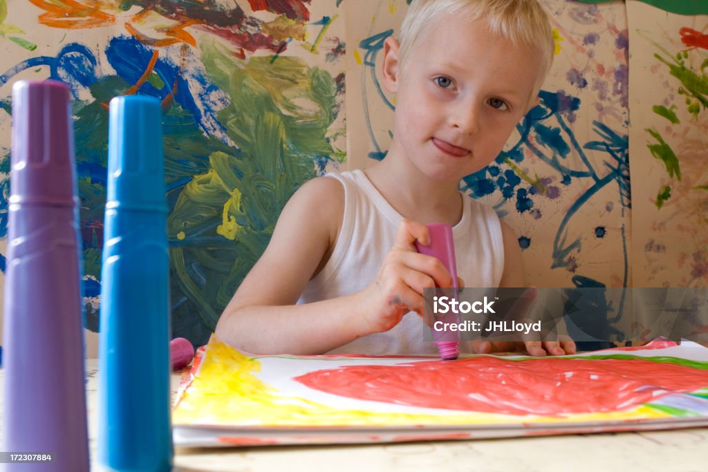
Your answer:
[[[69,88],[12,90],[0,451],[51,454],[7,471],[89,471],[81,253]]]

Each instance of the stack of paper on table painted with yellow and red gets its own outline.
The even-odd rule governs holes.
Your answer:
[[[441,361],[254,356],[212,339],[173,424],[176,444],[190,445],[687,427],[708,424],[708,349],[655,342],[576,356]]]

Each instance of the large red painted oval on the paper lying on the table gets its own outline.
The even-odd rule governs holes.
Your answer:
[[[296,377],[334,395],[423,408],[508,415],[616,412],[708,386],[708,371],[645,359],[483,356],[355,365]]]

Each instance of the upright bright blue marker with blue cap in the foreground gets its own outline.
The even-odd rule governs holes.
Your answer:
[[[155,98],[110,100],[104,224],[97,461],[108,471],[169,471],[169,257]]]

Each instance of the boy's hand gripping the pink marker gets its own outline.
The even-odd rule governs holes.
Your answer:
[[[453,285],[445,265],[438,258],[419,254],[415,241],[424,246],[430,244],[428,226],[404,219],[375,279],[360,292],[372,332],[393,328],[409,311],[423,316],[424,288]]]

